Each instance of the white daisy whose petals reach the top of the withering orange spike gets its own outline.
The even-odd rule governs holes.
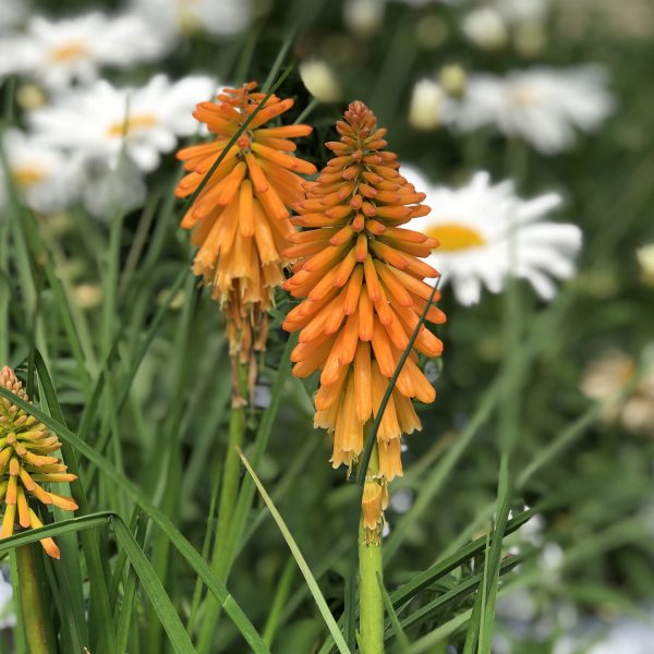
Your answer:
[[[161,153],[174,149],[178,136],[195,132],[192,111],[216,90],[204,75],[174,83],[156,75],[138,88],[116,88],[101,80],[62,94],[32,113],[29,122],[44,141],[82,158],[105,159],[116,169],[124,147],[140,170],[150,172]]]

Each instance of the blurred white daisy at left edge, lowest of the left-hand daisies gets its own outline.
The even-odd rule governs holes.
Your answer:
[[[53,214],[74,199],[80,172],[74,159],[16,129],[4,132],[2,148],[11,182],[31,209]],[[10,192],[7,182],[7,173],[0,166],[0,204]]]

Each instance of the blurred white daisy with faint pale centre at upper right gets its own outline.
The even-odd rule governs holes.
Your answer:
[[[613,108],[602,68],[538,66],[506,77],[471,75],[457,124],[461,131],[495,125],[507,136],[520,136],[552,155],[574,144],[574,128],[596,130]]]

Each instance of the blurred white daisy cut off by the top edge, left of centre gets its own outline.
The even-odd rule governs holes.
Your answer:
[[[252,15],[250,0],[132,0],[132,8],[169,36],[229,36],[244,29]]]

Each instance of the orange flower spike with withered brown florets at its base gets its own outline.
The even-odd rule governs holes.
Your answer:
[[[179,197],[198,187],[229,141],[263,102],[256,83],[226,88],[217,102],[201,102],[193,116],[205,123],[215,141],[181,149],[178,158],[187,174],[177,187]],[[313,164],[295,157],[290,141],[306,136],[310,125],[263,125],[288,111],[292,99],[271,95],[229,149],[182,220],[193,229],[198,246],[194,271],[223,304],[232,353],[246,362],[253,347],[265,348],[266,312],[275,287],[283,281],[289,259],[283,251],[294,233],[291,205],[304,197],[300,174],[313,174]],[[255,342],[256,341],[256,342]]]

